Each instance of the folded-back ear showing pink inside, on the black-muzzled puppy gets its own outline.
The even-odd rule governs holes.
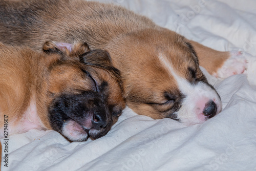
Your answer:
[[[90,51],[86,42],[76,41],[74,44],[66,42],[46,41],[42,50],[46,53],[66,54],[70,57],[79,57],[79,55]]]

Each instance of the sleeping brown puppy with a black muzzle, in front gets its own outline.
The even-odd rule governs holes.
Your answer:
[[[51,41],[43,51],[0,44],[0,138],[30,129],[70,141],[108,133],[125,106],[108,52]]]

